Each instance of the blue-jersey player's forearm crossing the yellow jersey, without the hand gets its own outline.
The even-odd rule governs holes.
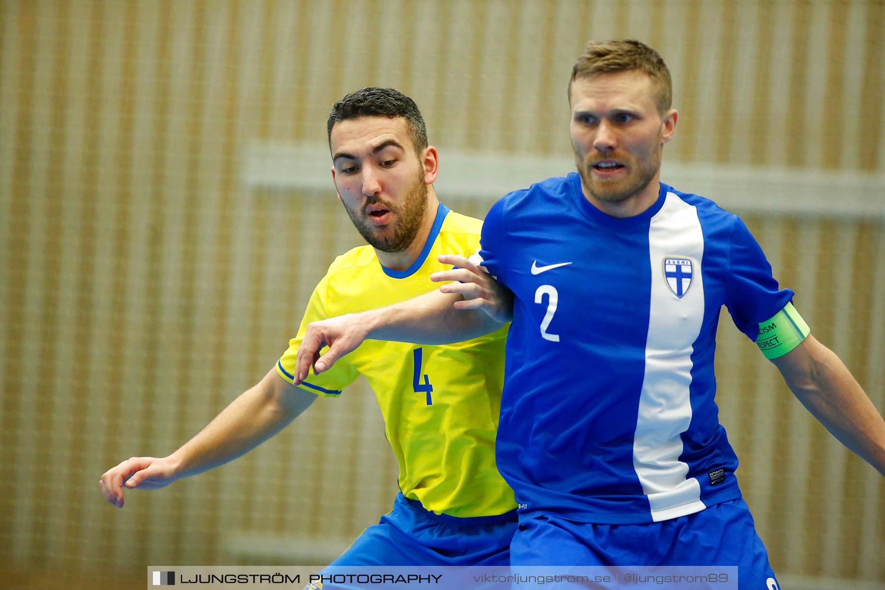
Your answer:
[[[432,291],[403,303],[359,314],[365,322],[366,338],[451,344],[494,332],[503,324],[482,310],[457,310],[461,295]]]

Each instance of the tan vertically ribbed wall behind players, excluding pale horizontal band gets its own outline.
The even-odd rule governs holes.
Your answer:
[[[447,153],[567,161],[574,59],[625,36],[673,73],[666,162],[881,183],[873,214],[843,214],[850,195],[834,194],[829,213],[744,218],[885,411],[881,0],[2,0],[0,568],[140,587],[149,564],[325,563],[346,548],[396,494],[363,385],[233,464],[127,492],[124,510],[98,489],[257,382],[327,264],[359,243],[331,179],[246,183],[246,150],[321,146],[336,100],[389,86],[419,104],[441,175],[458,173]],[[440,196],[478,217],[491,203]],[[885,581],[881,475],[723,315],[718,402],[775,570]]]

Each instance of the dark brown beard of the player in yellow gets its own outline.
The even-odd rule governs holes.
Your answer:
[[[370,205],[381,205],[389,210],[393,220],[387,226],[375,226],[368,220],[366,209]],[[415,183],[408,189],[402,207],[395,207],[387,201],[370,196],[366,199],[363,211],[351,210],[344,205],[344,211],[350,216],[350,221],[357,228],[363,239],[374,249],[381,252],[402,252],[412,245],[424,213],[427,210],[427,185],[424,184],[424,166],[418,165],[418,175]]]

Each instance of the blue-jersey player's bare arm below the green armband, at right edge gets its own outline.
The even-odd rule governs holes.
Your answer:
[[[772,363],[820,424],[885,475],[885,421],[832,350],[808,336]]]

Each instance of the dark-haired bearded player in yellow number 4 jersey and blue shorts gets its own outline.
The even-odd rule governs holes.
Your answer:
[[[369,243],[335,259],[313,292],[289,349],[258,385],[166,457],[133,457],[106,471],[107,502],[124,488],[157,489],[212,469],[279,432],[319,396],[366,376],[399,463],[394,508],[333,565],[509,565],[516,503],[495,464],[506,327],[444,346],[366,341],[335,367],[292,384],[312,321],[372,310],[435,290],[437,257],[479,248],[481,221],[436,199],[437,155],[418,107],[390,88],[363,88],[327,121],[338,198]]]

